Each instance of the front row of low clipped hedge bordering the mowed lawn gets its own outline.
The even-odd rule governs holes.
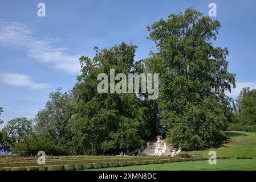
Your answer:
[[[124,166],[137,166],[147,164],[162,164],[169,162],[185,162],[185,161],[196,161],[196,160],[208,160],[208,158],[170,158],[170,159],[159,159],[159,160],[136,160],[136,161],[121,161],[121,162],[104,162],[104,163],[86,163],[86,164],[65,164],[65,165],[54,165],[54,166],[30,166],[30,167],[3,167],[4,171],[73,171],[81,169],[99,169],[108,167],[124,167]]]

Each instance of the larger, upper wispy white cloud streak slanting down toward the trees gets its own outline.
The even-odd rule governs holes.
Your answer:
[[[68,53],[67,48],[58,46],[56,39],[39,37],[35,31],[19,22],[0,20],[0,46],[24,49],[29,57],[68,73],[80,71],[80,54]]]

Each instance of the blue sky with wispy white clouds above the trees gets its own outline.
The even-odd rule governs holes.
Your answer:
[[[38,17],[38,3],[46,17]],[[208,15],[217,5],[222,27],[215,46],[229,49],[229,71],[237,73],[235,98],[244,86],[256,88],[256,1],[0,1],[0,118],[33,118],[48,94],[71,89],[79,75],[79,57],[92,48],[121,42],[139,46],[136,60],[155,46],[146,27],[188,7]],[[1,126],[0,126],[1,128]]]

